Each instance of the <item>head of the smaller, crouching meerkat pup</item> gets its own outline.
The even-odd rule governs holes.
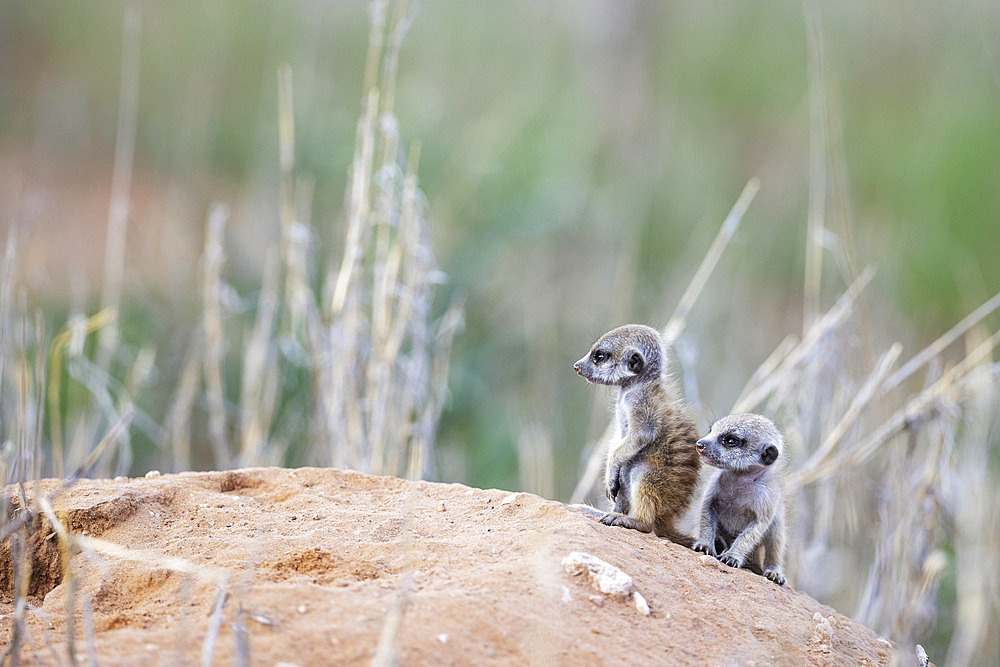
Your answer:
[[[773,465],[784,446],[774,422],[754,414],[723,417],[697,445],[705,463],[738,473]]]

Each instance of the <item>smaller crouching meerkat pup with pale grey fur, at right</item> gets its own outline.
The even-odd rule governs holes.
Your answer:
[[[718,470],[705,489],[694,549],[784,585],[784,440],[778,427],[761,415],[729,415],[697,448]]]

